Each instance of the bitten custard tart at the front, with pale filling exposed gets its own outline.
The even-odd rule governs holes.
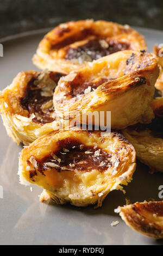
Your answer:
[[[131,181],[135,167],[135,150],[120,133],[67,130],[24,148],[18,174],[22,184],[43,187],[58,204],[101,206],[110,191]],[[43,192],[40,199],[47,198]]]

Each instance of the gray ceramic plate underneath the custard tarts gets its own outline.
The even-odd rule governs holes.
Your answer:
[[[137,28],[145,35],[148,49],[163,43],[163,32]],[[32,56],[46,31],[14,36],[3,40],[4,57],[0,57],[0,89],[11,83],[18,72],[36,69]],[[40,203],[39,187],[22,186],[18,183],[17,146],[7,136],[0,121],[1,161],[0,185],[3,198],[0,199],[0,244],[1,245],[160,245],[156,241],[131,230],[114,213],[118,205],[125,204],[125,197],[132,202],[147,198],[158,198],[158,187],[163,185],[162,174],[148,174],[143,164],[137,163],[133,181],[126,187],[126,195],[113,191],[104,200],[101,209],[93,210]],[[111,227],[112,221],[120,221]]]

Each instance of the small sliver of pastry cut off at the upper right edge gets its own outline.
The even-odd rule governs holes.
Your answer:
[[[159,57],[160,75],[155,83],[155,88],[163,92],[163,47],[159,48],[155,45],[153,48],[153,53]]]

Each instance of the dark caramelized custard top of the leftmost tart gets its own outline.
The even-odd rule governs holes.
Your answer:
[[[35,115],[34,123],[46,124],[55,120],[53,93],[61,76],[63,74],[51,72],[36,75],[29,81],[21,105],[28,110],[28,117]]]

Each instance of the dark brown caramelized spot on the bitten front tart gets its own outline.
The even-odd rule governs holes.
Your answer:
[[[58,172],[74,171],[90,172],[99,170],[103,172],[112,166],[111,154],[96,147],[87,147],[76,140],[65,139],[57,142],[59,150],[51,153],[40,162],[37,161],[39,172],[42,174],[49,168]]]

